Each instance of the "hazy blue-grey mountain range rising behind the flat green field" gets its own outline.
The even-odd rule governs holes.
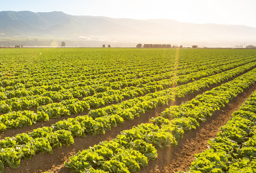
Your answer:
[[[0,36],[40,35],[113,42],[255,42],[256,28],[244,25],[193,24],[167,19],[133,20],[73,16],[63,12],[0,12]],[[0,38],[1,38],[0,37]]]

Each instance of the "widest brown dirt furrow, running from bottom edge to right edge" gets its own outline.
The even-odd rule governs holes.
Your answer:
[[[185,133],[176,147],[172,147],[170,150],[158,149],[157,159],[150,161],[148,167],[143,168],[140,172],[187,171],[191,162],[195,159],[195,154],[208,148],[208,140],[216,136],[219,128],[226,124],[231,118],[231,114],[238,110],[255,90],[256,84],[251,85],[243,93],[237,95],[224,108],[216,111],[212,117],[207,118],[206,122],[200,123],[196,130]]]

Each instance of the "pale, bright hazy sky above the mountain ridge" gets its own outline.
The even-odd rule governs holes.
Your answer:
[[[256,0],[0,0],[0,4],[0,11],[62,11],[70,15],[168,18],[256,27]]]

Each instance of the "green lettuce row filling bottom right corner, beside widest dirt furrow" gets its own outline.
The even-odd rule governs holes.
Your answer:
[[[210,139],[210,149],[195,155],[187,172],[256,172],[256,92]],[[181,173],[181,171],[180,171]]]

